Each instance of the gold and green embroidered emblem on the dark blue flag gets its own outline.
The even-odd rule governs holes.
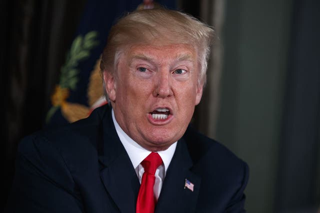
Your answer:
[[[84,36],[78,35],[73,40],[71,48],[67,53],[65,64],[61,67],[59,83],[56,85],[54,93],[51,96],[52,107],[47,112],[46,123],[50,121],[52,115],[59,108],[61,109],[62,116],[68,122],[85,118],[91,111],[91,106],[93,106],[94,102],[96,102],[98,98],[103,97],[102,79],[99,76],[100,60],[97,60],[93,71],[90,73],[87,89],[88,105],[90,107],[66,101],[69,97],[70,90],[76,89],[78,82],[77,75],[79,72],[77,69],[78,63],[87,59],[90,55],[90,50],[98,44],[96,36],[96,31],[90,31]]]

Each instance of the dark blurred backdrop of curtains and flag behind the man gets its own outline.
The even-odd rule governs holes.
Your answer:
[[[249,165],[247,212],[318,213],[319,0],[1,0],[1,205],[20,139],[101,103],[93,73],[110,26],[159,5],[216,31],[192,123]]]

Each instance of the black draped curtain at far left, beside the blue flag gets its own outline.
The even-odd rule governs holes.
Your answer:
[[[85,0],[2,0],[0,3],[3,205],[11,186],[18,141],[43,125],[50,93],[84,4]]]

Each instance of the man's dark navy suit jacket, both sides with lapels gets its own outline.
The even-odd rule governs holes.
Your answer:
[[[193,192],[184,188],[185,179]],[[190,127],[177,142],[156,213],[242,213],[247,165]],[[6,211],[134,213],[139,181],[108,106],[24,138]]]

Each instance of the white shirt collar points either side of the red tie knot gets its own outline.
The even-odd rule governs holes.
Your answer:
[[[119,126],[117,123],[113,109],[111,111],[112,113],[112,120],[114,123],[114,127],[116,130],[116,133],[126,151],[128,154],[130,161],[132,163],[132,166],[134,169],[137,168],[137,166],[143,161],[146,156],[148,156],[151,152],[141,147],[139,144],[137,144],[135,141],[133,141]],[[169,167],[169,164],[171,162],[171,159],[173,157],[174,151],[176,148],[176,142],[174,142],[169,148],[163,151],[157,152],[159,156],[162,159],[162,162],[164,164],[164,172],[166,173],[167,168]]]

